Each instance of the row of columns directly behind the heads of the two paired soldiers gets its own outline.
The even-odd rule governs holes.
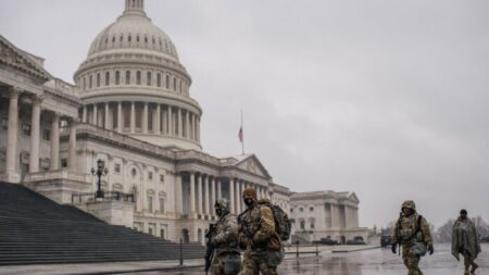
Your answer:
[[[228,185],[230,212],[239,214],[246,210],[242,200],[244,188],[254,188],[259,199],[271,199],[267,187],[234,177],[220,177],[199,172],[189,172],[189,214],[197,217],[210,217],[214,214],[214,203],[223,196],[224,185]]]

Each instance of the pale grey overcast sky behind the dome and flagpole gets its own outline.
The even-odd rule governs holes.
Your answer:
[[[73,73],[123,0],[2,0],[0,34]],[[244,142],[293,191],[354,191],[362,226],[413,199],[489,218],[489,1],[147,0],[202,109],[204,151]]]

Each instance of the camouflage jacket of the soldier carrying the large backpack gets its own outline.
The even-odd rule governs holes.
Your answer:
[[[240,215],[239,240],[240,246],[247,250],[280,250],[280,240],[275,233],[274,214],[268,207],[256,205]]]

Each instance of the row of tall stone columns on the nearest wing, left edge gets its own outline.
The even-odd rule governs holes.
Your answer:
[[[24,90],[20,88],[11,88],[9,90],[9,118],[7,129],[7,160],[5,160],[5,174],[12,175],[14,178],[18,177],[18,102],[21,95],[25,95]],[[41,116],[41,103],[42,99],[30,95],[32,100],[32,117],[30,117],[30,152],[29,152],[29,173],[39,172],[39,143],[40,143],[40,116]],[[46,110],[47,111],[47,110]],[[60,117],[61,114],[48,111],[52,114],[51,123],[51,155],[50,155],[50,170],[59,170],[60,166]],[[76,120],[67,117],[70,123],[70,152],[68,152],[68,168],[71,171],[76,170]],[[10,177],[10,176],[9,176]],[[11,177],[10,177],[11,178]],[[14,179],[12,178],[12,179]],[[17,178],[18,179],[18,178]]]

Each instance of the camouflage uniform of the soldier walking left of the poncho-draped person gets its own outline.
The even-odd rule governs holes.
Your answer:
[[[392,233],[392,243],[402,246],[402,260],[404,261],[404,265],[408,267],[408,275],[423,275],[423,272],[418,267],[421,257],[413,253],[412,248],[416,242],[416,239],[432,248],[432,237],[429,232],[429,224],[425,217],[422,217],[419,228],[422,238],[419,239],[417,236],[413,236],[413,233],[415,233],[417,228],[418,214],[416,213],[416,205],[413,201],[409,200],[402,203],[402,210],[405,208],[412,209],[413,214],[409,216],[403,214],[402,217],[400,217],[400,221],[396,223],[396,227]],[[409,238],[410,236],[413,237]]]

